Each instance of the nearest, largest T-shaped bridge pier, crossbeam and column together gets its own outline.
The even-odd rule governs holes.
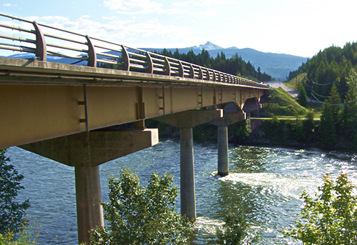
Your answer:
[[[158,129],[90,131],[19,146],[74,166],[79,244],[90,244],[91,229],[104,226],[99,164],[159,143]]]

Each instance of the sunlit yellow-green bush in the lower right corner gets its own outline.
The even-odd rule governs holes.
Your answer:
[[[303,191],[301,217],[296,226],[283,229],[283,234],[303,241],[303,244],[357,244],[356,186],[341,174],[336,181],[326,174],[315,198]]]

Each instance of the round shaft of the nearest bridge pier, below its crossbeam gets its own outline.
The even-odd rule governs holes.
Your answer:
[[[89,244],[89,231],[97,226],[104,226],[99,166],[76,166],[74,174],[76,176],[78,241],[79,244]]]

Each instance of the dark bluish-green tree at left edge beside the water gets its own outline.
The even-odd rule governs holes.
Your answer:
[[[25,211],[30,206],[29,200],[22,203],[14,200],[17,192],[24,189],[20,184],[24,176],[16,171],[14,165],[9,164],[6,151],[0,149],[0,234],[18,232],[24,223]]]

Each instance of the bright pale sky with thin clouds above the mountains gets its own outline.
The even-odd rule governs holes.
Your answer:
[[[211,41],[303,57],[357,41],[356,7],[356,0],[0,0],[1,13],[135,48]]]

